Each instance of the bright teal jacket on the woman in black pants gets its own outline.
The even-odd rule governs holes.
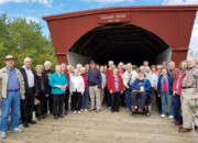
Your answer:
[[[62,90],[57,87],[55,87],[56,85],[58,86],[65,86],[67,85],[68,86],[68,80],[67,78],[65,77],[65,74],[61,74],[61,77],[54,73],[51,78],[50,78],[50,86],[52,87],[52,95],[63,95],[66,92],[66,90]]]

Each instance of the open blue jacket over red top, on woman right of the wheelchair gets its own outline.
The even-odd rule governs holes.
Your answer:
[[[160,77],[158,77],[158,81],[157,81],[157,92],[158,92],[158,95],[161,95],[162,96],[162,94],[163,94],[163,79],[164,79],[164,77],[163,77],[163,75],[161,75]],[[168,94],[169,95],[173,95],[173,78],[172,78],[172,76],[169,75],[169,74],[167,74],[167,76],[166,76],[166,84],[168,85],[167,86],[167,90],[168,90]]]

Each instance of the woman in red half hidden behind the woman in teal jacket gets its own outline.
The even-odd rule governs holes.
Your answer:
[[[69,74],[67,73],[67,66],[66,66],[66,64],[62,64],[61,65],[61,68],[62,68],[62,74],[65,74],[65,77],[67,78],[67,80],[68,80],[68,86],[67,86],[67,88],[66,88],[66,94],[65,94],[65,116],[67,116],[68,114],[68,100],[69,100],[69,79],[70,79],[70,77],[69,77]]]

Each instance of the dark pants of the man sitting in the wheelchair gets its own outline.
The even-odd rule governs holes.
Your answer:
[[[133,107],[139,107],[139,108],[144,108],[145,107],[145,102],[147,99],[147,94],[146,92],[138,92],[138,91],[133,91],[131,95],[131,99],[132,99],[132,106]]]

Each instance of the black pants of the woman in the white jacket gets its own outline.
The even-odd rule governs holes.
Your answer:
[[[74,97],[74,110],[80,111],[81,108],[81,92],[73,92]]]

